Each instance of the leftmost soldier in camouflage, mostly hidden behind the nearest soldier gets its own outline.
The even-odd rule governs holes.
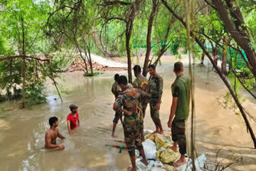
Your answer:
[[[118,85],[118,78],[119,78],[119,74],[115,74],[114,75],[114,84],[112,85],[112,89],[111,89],[111,92],[114,94],[115,100],[117,99],[118,94],[121,92],[121,89]],[[111,134],[112,137],[118,137],[117,135],[114,134],[114,131],[118,124],[119,119],[122,122],[122,113],[116,112],[114,115],[114,120],[113,120],[113,129],[112,129],[112,134]]]

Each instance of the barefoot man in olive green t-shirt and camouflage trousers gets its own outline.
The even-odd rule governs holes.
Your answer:
[[[172,146],[171,149],[173,149],[174,152],[178,152],[178,145],[179,152],[182,154],[178,161],[174,163],[174,166],[186,164],[185,122],[190,112],[190,79],[183,76],[183,71],[182,62],[176,62],[174,64],[174,73],[177,78],[173,85],[171,85],[173,102],[170,108],[170,118],[167,123],[168,127],[171,128],[172,139],[174,141],[174,146]]]

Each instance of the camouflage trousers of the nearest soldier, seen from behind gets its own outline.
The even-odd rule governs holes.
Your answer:
[[[140,123],[136,113],[131,116],[124,117],[123,129],[125,135],[125,141],[128,151],[136,149],[138,146],[142,146],[142,141],[140,139],[139,127]]]

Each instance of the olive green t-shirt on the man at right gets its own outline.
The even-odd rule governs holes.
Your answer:
[[[190,113],[190,79],[183,74],[171,85],[173,97],[178,97],[174,121],[187,119]]]

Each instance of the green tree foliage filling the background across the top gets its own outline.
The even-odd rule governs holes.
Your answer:
[[[103,0],[10,0],[0,5],[0,58],[22,55],[23,42],[28,56],[47,58],[50,62],[38,62],[26,59],[26,102],[34,105],[46,100],[44,82],[46,78],[58,78],[59,73],[73,62],[78,50],[82,52],[106,55],[110,57],[126,55],[126,21],[130,13],[130,6],[115,4],[114,6],[101,6]],[[118,2],[118,1],[112,1]],[[134,2],[131,0],[123,2]],[[162,46],[168,47],[171,54],[181,58],[179,48],[187,52],[186,29],[161,1],[158,11],[154,16],[151,34],[151,47],[154,56],[161,53]],[[185,7],[181,1],[167,1],[170,6],[176,6],[175,11],[186,21]],[[241,6],[248,34],[250,34],[250,48],[256,49],[256,4],[253,1],[238,0]],[[219,58],[222,57],[223,36],[230,37],[226,27],[216,10],[200,3],[194,6],[193,23],[194,34],[200,41],[209,44],[208,50],[218,50]],[[140,10],[133,23],[130,38],[130,50],[135,55],[139,49],[146,50],[146,36],[148,19],[152,9],[152,1],[142,1]],[[110,19],[112,18],[112,19]],[[170,28],[169,34],[167,33]],[[22,31],[24,30],[24,37]],[[217,43],[216,43],[217,42]],[[230,45],[238,47],[236,42]],[[191,52],[194,58],[200,58],[201,50],[191,43]],[[239,47],[238,47],[239,49]],[[143,51],[141,50],[141,51]],[[40,55],[39,55],[40,54]],[[75,55],[74,55],[75,54]],[[246,62],[236,50],[228,53],[228,63],[234,69],[241,70],[238,77],[242,78],[247,89],[256,86],[254,75],[250,72]],[[234,59],[236,62],[234,63]],[[87,60],[87,59],[86,59]],[[88,73],[88,72],[86,72]],[[97,76],[102,73],[85,74],[86,77]],[[230,74],[230,82],[238,93],[241,87],[234,74]],[[14,58],[0,62],[0,101],[18,99],[22,90],[22,59]],[[227,97],[226,97],[227,99]],[[226,100],[227,101],[227,100]]]

